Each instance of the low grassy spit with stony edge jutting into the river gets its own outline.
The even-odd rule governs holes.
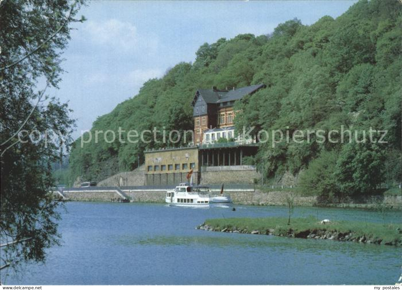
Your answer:
[[[273,234],[277,236],[333,239],[402,246],[402,224],[332,221],[321,224],[315,218],[222,218],[206,220],[199,228],[224,232]]]

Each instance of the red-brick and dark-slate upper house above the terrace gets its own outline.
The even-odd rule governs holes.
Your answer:
[[[247,95],[254,94],[264,84],[255,84],[232,90],[198,89],[193,98],[193,118],[195,144],[210,143],[219,138],[231,139],[234,136],[234,117],[236,112],[233,109],[234,103]],[[231,130],[216,130],[215,129]],[[222,131],[222,132],[221,132]],[[209,134],[205,134],[205,133]],[[213,140],[205,140],[211,137]]]

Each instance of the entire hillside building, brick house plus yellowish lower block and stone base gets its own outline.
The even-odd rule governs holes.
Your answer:
[[[146,185],[174,185],[187,181],[193,170],[194,183],[253,183],[260,177],[254,165],[243,165],[243,158],[254,156],[255,140],[235,136],[234,103],[254,94],[264,84],[233,90],[199,89],[193,98],[194,143],[182,148],[163,148],[145,152]],[[224,138],[224,142],[217,142]]]

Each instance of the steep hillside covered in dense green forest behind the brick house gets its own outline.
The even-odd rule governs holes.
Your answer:
[[[193,64],[180,63],[138,95],[99,117],[95,130],[193,128],[191,100],[197,88],[263,83],[236,103],[237,128],[272,130],[388,130],[388,143],[271,142],[261,144],[253,162],[275,182],[285,171],[300,174],[305,190],[325,198],[370,191],[401,175],[401,4],[361,1],[337,19],[313,25],[289,20],[268,35],[238,35],[205,43]],[[269,33],[269,31],[267,31]],[[360,132],[360,131],[359,131]],[[380,134],[374,134],[379,137]],[[362,136],[359,136],[361,140]],[[314,137],[313,137],[314,138]],[[101,138],[70,155],[70,178],[100,180],[137,167],[146,148],[166,144],[108,144]],[[176,145],[177,146],[177,145]]]

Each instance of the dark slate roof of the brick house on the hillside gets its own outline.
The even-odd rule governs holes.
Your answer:
[[[265,84],[254,84],[252,86],[246,86],[243,88],[237,88],[236,90],[229,90],[229,91],[200,88],[197,90],[197,93],[195,94],[193,102],[191,104],[194,106],[195,102],[197,101],[198,95],[200,95],[204,99],[204,101],[208,104],[236,101],[242,99],[246,95],[254,93],[256,90],[260,88],[265,88]]]

